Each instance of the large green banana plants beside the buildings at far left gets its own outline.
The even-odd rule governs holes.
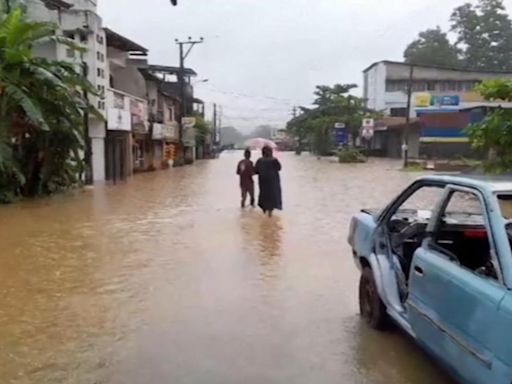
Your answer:
[[[55,31],[21,8],[0,15],[0,200],[67,188],[83,169],[83,113],[99,114],[81,90],[96,91],[72,64],[33,55],[48,40],[78,49]]]

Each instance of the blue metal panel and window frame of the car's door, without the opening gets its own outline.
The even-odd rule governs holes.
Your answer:
[[[498,318],[503,316],[499,308],[507,292],[500,271],[493,278],[467,268],[463,263],[476,257],[476,251],[475,255],[456,255],[450,251],[453,244],[441,235],[447,212],[461,194],[478,206],[489,241],[489,259],[493,269],[499,268],[483,196],[477,190],[448,186],[428,236],[413,257],[406,304],[409,322],[417,340],[464,382],[510,384],[510,378],[503,381],[500,368],[493,366],[493,325],[504,323]]]

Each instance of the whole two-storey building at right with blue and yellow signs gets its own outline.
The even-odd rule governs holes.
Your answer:
[[[370,145],[376,153],[401,157],[407,136],[411,158],[474,156],[464,129],[481,121],[489,109],[512,108],[506,101],[485,101],[475,86],[491,79],[512,79],[512,72],[482,72],[380,61],[366,68],[364,99],[386,117],[377,122]],[[410,124],[407,94],[412,84]]]

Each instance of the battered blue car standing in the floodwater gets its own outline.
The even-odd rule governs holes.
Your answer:
[[[512,179],[422,177],[348,241],[370,326],[398,324],[463,383],[512,383]]]

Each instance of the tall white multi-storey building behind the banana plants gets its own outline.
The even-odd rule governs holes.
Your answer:
[[[35,47],[35,53],[50,59],[75,63],[80,70],[87,68],[89,81],[102,97],[89,96],[89,100],[106,117],[105,93],[109,82],[107,48],[101,17],[96,0],[27,0],[28,17],[36,21],[53,22],[59,26],[58,34],[74,40],[86,48],[84,54],[62,44],[48,42]],[[105,180],[105,122],[89,119],[94,181]]]

